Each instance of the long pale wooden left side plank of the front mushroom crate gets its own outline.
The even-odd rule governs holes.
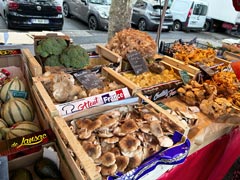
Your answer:
[[[81,163],[82,168],[86,171],[87,176],[91,180],[101,180],[102,176],[96,170],[96,165],[92,159],[88,156],[86,151],[83,149],[81,144],[78,142],[77,138],[74,136],[70,128],[68,127],[65,120],[61,117],[54,118],[55,124],[57,125],[59,133],[62,135],[62,138],[66,140],[76,155],[76,158]]]

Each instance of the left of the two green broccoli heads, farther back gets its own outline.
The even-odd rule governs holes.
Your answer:
[[[48,37],[38,42],[36,53],[46,58],[50,55],[60,55],[67,47],[67,42],[63,38]]]

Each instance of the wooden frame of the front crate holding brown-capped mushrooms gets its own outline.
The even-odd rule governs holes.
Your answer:
[[[172,116],[170,113],[168,113],[166,110],[163,110],[160,108],[157,104],[154,102],[150,101],[147,99],[145,96],[143,96],[141,93],[136,93],[136,95],[139,97],[139,102],[145,101],[147,103],[146,106],[151,108],[154,112],[158,112],[160,114],[164,114],[167,116],[174,124],[176,124],[179,128],[182,129],[182,133],[186,136],[189,132],[189,127],[181,122],[179,119],[176,117]],[[121,105],[115,105],[115,106],[98,106],[95,107],[94,109],[88,109],[86,111],[82,111],[79,113],[74,114],[71,117],[54,117],[53,121],[55,124],[55,128],[58,129],[59,134],[61,134],[61,138],[63,141],[68,145],[70,149],[75,154],[76,161],[80,162],[80,165],[82,169],[80,169],[80,166],[77,166],[77,168],[74,168],[75,175],[77,174],[82,174],[82,171],[86,173],[87,179],[91,180],[98,180],[102,179],[101,174],[96,170],[96,165],[92,161],[92,159],[87,155],[85,150],[83,149],[82,145],[78,142],[76,136],[74,135],[73,131],[70,129],[68,123],[70,120],[73,120],[75,118],[80,118],[80,117],[85,117],[89,115],[94,115],[94,114],[101,114],[102,112],[105,112],[107,110],[111,110],[117,107],[125,106],[124,104]],[[81,179],[81,178],[80,178]]]

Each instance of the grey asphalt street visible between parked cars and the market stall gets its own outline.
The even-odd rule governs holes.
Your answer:
[[[2,18],[0,18],[0,32],[24,32],[23,30],[8,30]],[[107,31],[94,31],[89,30],[88,26],[77,20],[76,18],[65,18],[62,32],[69,35],[75,44],[80,44],[87,49],[94,49],[96,44],[105,44],[107,42]],[[154,39],[156,39],[155,31],[148,31]],[[170,31],[162,32],[160,40],[165,42],[174,42],[178,39],[189,41],[197,37],[200,42],[208,42],[214,46],[220,46],[221,40],[226,38],[233,38],[227,34],[211,33],[211,32],[183,32],[183,31]]]

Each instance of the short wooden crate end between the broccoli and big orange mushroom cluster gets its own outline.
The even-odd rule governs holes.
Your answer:
[[[111,50],[107,49],[106,47],[102,45],[97,45],[96,46],[96,52],[106,58],[109,61],[112,61],[114,63],[121,63],[122,57],[118,55],[117,53],[112,52]]]

